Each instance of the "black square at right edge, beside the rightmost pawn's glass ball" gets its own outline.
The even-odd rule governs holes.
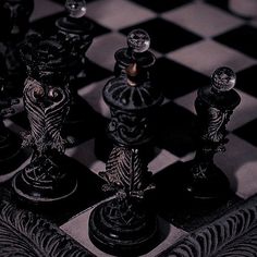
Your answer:
[[[257,65],[253,65],[248,69],[245,69],[236,74],[236,85],[235,89],[238,88],[252,96],[257,97],[257,87],[256,87],[256,74]]]

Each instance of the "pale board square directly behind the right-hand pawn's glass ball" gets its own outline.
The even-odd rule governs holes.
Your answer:
[[[219,66],[229,66],[234,72],[252,66],[257,60],[213,40],[201,40],[167,54],[192,70],[210,76]]]

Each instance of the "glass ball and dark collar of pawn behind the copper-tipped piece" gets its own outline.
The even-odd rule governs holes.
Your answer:
[[[114,54],[115,76],[119,76],[133,62],[140,66],[142,73],[147,73],[156,62],[156,57],[148,50],[150,47],[149,35],[146,30],[137,28],[127,35],[126,40],[127,47],[119,49]]]

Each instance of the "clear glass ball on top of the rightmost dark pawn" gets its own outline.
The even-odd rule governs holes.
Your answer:
[[[211,76],[211,86],[217,91],[229,91],[235,86],[236,75],[227,66],[218,68]]]

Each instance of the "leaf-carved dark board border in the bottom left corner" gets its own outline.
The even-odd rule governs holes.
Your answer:
[[[0,256],[86,257],[94,255],[50,222],[4,203],[0,212]]]

